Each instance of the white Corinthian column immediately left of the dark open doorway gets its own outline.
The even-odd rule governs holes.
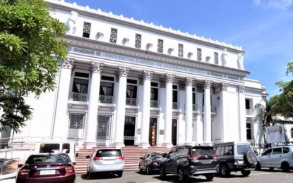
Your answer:
[[[121,149],[124,145],[124,123],[125,123],[125,103],[127,75],[130,68],[119,66],[119,84],[116,97],[116,119],[115,119],[115,139],[114,146]]]

